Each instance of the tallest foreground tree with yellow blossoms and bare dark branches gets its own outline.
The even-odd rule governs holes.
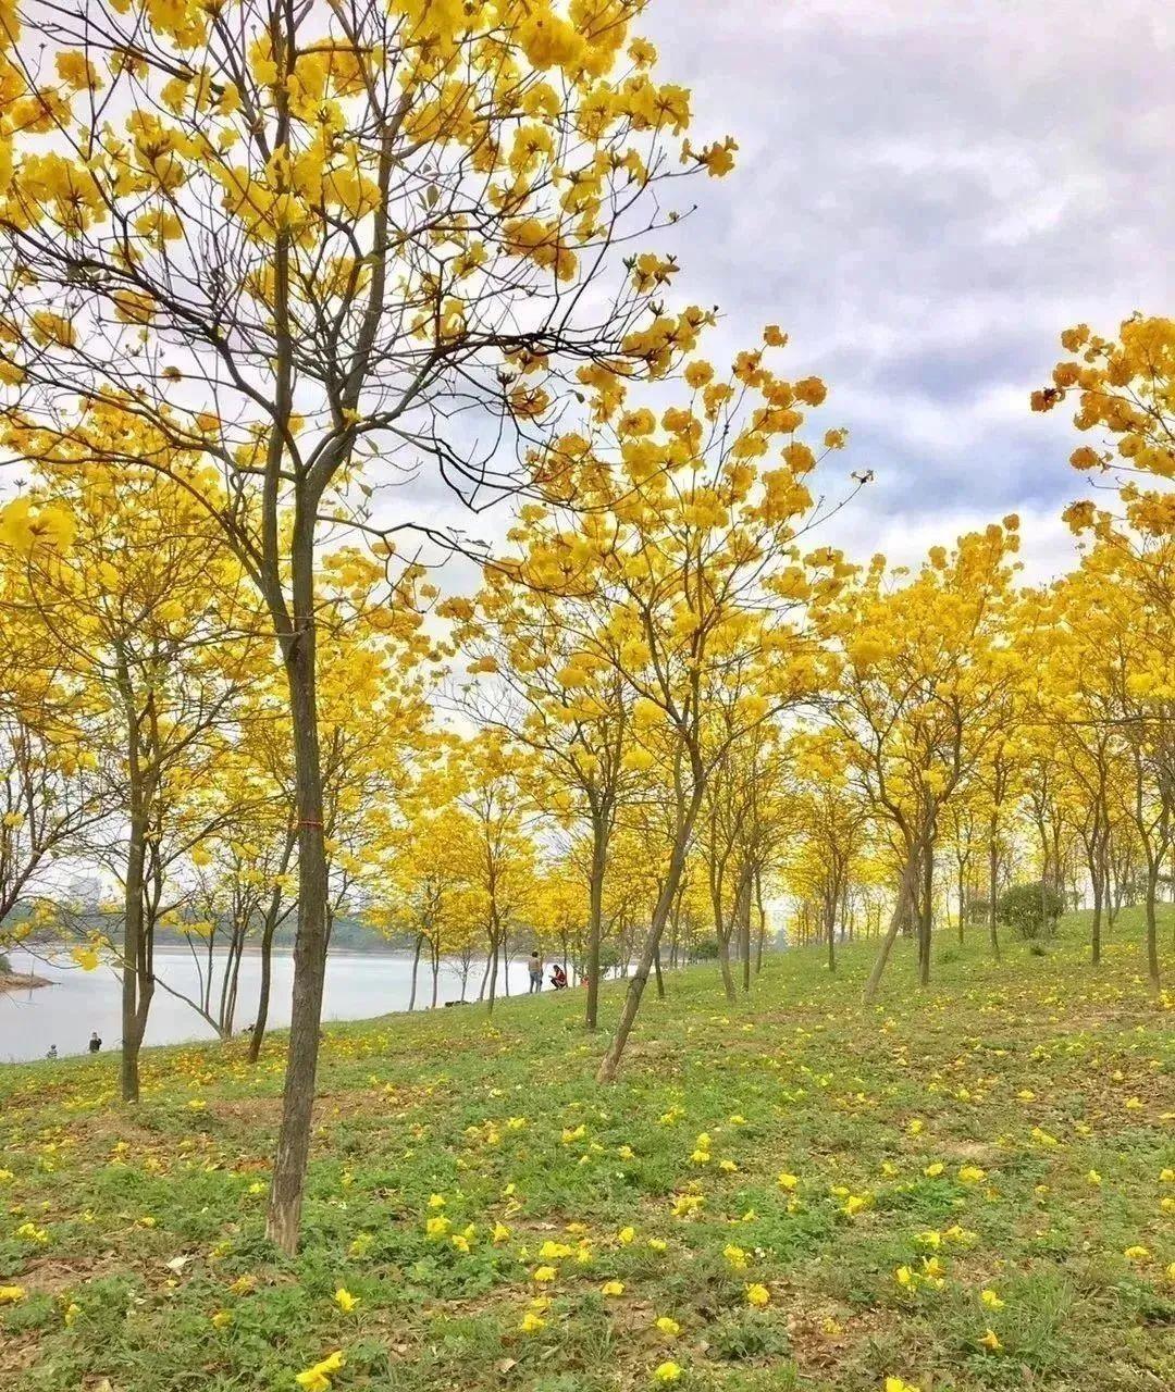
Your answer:
[[[642,8],[92,0],[0,26],[8,450],[180,480],[263,596],[287,678],[298,937],[269,1232],[288,1251],[330,894],[317,543],[342,522],[390,565],[391,533],[429,533],[373,516],[369,457],[427,459],[482,501],[533,482],[503,461],[568,383],[671,365],[654,187],[725,173],[732,142],[684,142],[689,93],[654,77]],[[123,429],[96,436],[95,413]]]

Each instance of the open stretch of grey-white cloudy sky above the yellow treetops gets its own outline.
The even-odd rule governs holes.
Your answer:
[[[739,164],[695,185],[678,294],[764,323],[830,386],[838,523],[902,560],[1016,509],[1036,578],[1071,558],[1069,413],[1027,394],[1057,335],[1175,309],[1175,11],[1139,0],[653,0],[661,75]]]

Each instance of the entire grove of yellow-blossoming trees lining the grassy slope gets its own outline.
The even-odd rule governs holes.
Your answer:
[[[1011,521],[913,578],[821,546],[823,384],[777,374],[774,327],[716,372],[713,312],[668,303],[675,185],[735,146],[685,138],[643,4],[0,4],[0,440],[28,482],[0,519],[0,910],[53,856],[107,867],[128,1098],[156,930],[189,926],[206,983],[226,945],[198,1002],[224,1026],[245,937],[297,924],[285,1250],[342,906],[430,962],[478,924],[490,1001],[519,926],[582,934],[589,1027],[618,937],[610,1079],[703,915],[749,988],[773,877],[831,926],[869,859],[885,951],[912,923],[929,979],[944,838],[980,818],[994,883],[1036,759],[1096,887],[1126,820],[1149,867],[1167,849],[1162,498],[1075,514],[1094,551],[1046,594],[1012,583]],[[1169,347],[1137,342],[1075,341],[1041,404],[1080,386],[1165,477]],[[480,553],[381,493],[425,470],[519,504],[436,612],[419,548]],[[433,715],[445,664],[475,734]]]

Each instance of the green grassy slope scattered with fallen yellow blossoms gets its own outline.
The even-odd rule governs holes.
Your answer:
[[[238,1044],[150,1051],[134,1114],[114,1059],[0,1070],[0,1285],[26,1289],[0,1385],[294,1392],[341,1349],[340,1392],[647,1388],[668,1360],[728,1392],[1169,1388],[1169,1009],[1133,934],[1100,973],[1076,941],[995,967],[975,937],[924,995],[901,945],[876,1012],[869,949],[835,979],[775,958],[730,1011],[713,969],[670,977],[611,1090],[575,992],[331,1026],[295,1263],[262,1235],[280,1040],[258,1072]],[[936,1256],[941,1288],[899,1286]]]

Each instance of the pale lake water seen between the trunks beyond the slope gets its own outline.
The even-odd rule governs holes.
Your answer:
[[[46,965],[39,958],[19,949],[8,952],[14,972],[32,972],[53,981],[35,991],[0,992],[0,1062],[22,1062],[45,1058],[50,1044],[60,1055],[85,1052],[90,1030],[97,1030],[104,1050],[118,1047],[123,1036],[120,997],[121,984],[113,967],[100,966],[82,972],[70,965]],[[156,976],[175,990],[198,995],[198,977],[191,954],[184,951],[155,954]],[[469,995],[476,997],[484,962],[476,962],[469,973]],[[260,960],[245,958],[241,963],[239,1006],[237,1027],[252,1023]],[[294,984],[294,959],[274,958],[273,991],[269,1025],[290,1023],[290,994]],[[526,962],[510,963],[510,991],[516,995],[526,990]],[[362,1020],[372,1015],[408,1009],[412,992],[412,958],[409,954],[365,956],[331,954],[326,963],[324,1020]],[[416,1006],[427,1005],[432,994],[432,973],[420,963]],[[498,969],[498,994],[503,994],[503,972]],[[441,963],[439,1001],[455,1001],[461,995],[457,967]],[[184,1001],[156,988],[148,1019],[146,1044],[184,1044],[189,1040],[216,1038],[216,1031]]]

